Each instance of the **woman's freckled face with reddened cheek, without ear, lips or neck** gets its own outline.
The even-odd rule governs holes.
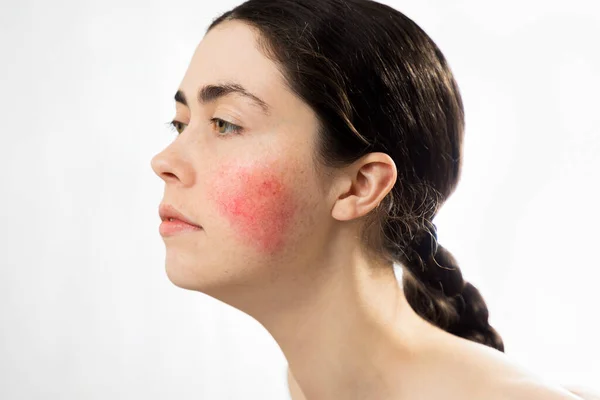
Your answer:
[[[243,87],[264,103],[219,90],[199,102],[207,85]],[[180,135],[152,168],[165,181],[162,203],[203,229],[163,237],[169,279],[219,296],[300,274],[331,220],[312,161],[316,115],[237,21],[204,37],[179,90],[187,102],[176,102]]]

